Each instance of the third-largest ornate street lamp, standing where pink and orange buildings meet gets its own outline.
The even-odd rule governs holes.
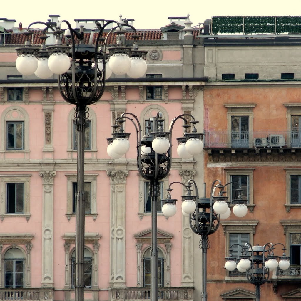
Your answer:
[[[216,182],[219,182],[217,185]],[[162,212],[165,216],[171,217],[176,212],[177,199],[171,198],[170,188],[172,184],[182,184],[186,188],[186,194],[182,196],[182,213],[189,217],[191,230],[200,235],[200,248],[202,249],[202,301],[207,301],[207,249],[209,248],[209,235],[216,232],[219,228],[220,220],[230,216],[230,204],[227,202],[228,197],[224,196],[225,186],[221,181],[215,180],[212,183],[210,198],[206,198],[206,183],[204,187],[204,198],[199,197],[197,184],[193,179],[190,179],[187,184],[181,182],[172,182],[167,189],[168,194],[166,199],[162,200]],[[218,195],[214,196],[216,188],[219,190]],[[195,189],[195,195],[192,191]],[[233,213],[237,217],[244,217],[247,214],[247,200],[243,200],[241,196],[242,189],[237,189],[239,192],[238,198],[232,200]]]

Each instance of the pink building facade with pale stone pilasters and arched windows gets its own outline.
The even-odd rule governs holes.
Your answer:
[[[50,16],[57,21],[57,16]],[[181,18],[180,18],[181,19]],[[164,128],[176,116],[189,113],[203,125],[203,46],[188,19],[180,31],[163,27],[141,41],[148,50],[148,69],[139,81],[110,78],[98,103],[89,106],[85,138],[85,300],[147,299],[150,294],[151,214],[147,182],[138,174],[135,128],[129,152],[121,159],[107,155],[106,138],[123,112],[134,113],[146,131],[146,122],[163,113]],[[57,80],[22,77],[15,68],[15,47],[22,32],[9,27],[0,46],[0,299],[74,299],[76,135],[74,106],[66,103]],[[171,23],[172,23],[171,19]],[[14,23],[14,22],[12,22]],[[174,24],[172,24],[174,27]],[[167,28],[167,29],[166,29]],[[87,30],[89,33],[89,30]],[[154,31],[153,33],[156,33]],[[185,34],[185,36],[184,36]],[[15,37],[13,43],[9,39]],[[173,162],[162,181],[162,198],[173,181],[202,182],[202,155],[178,158],[173,131]],[[174,187],[180,198],[181,186]],[[163,299],[192,300],[200,294],[195,258],[198,238],[188,217],[166,219],[158,210],[159,291]],[[195,252],[194,252],[195,249]],[[195,261],[194,265],[193,262]]]

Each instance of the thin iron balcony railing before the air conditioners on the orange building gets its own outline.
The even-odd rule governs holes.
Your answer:
[[[206,131],[206,148],[301,147],[301,132]]]

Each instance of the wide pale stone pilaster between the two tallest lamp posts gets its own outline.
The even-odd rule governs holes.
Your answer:
[[[109,170],[110,177],[110,285],[126,286],[126,170]]]

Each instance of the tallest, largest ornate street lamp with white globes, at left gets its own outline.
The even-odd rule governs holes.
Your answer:
[[[75,105],[74,124],[77,126],[77,192],[76,192],[76,255],[75,255],[75,301],[84,300],[84,137],[85,125],[88,122],[87,105],[96,103],[104,93],[106,71],[121,75],[128,73],[132,77],[140,77],[146,71],[146,53],[139,51],[137,46],[138,35],[134,34],[132,48],[123,46],[124,26],[135,28],[127,20],[104,21],[103,26],[96,20],[98,36],[95,45],[84,43],[84,28],[79,32],[74,30],[66,20],[67,30],[61,29],[61,24],[33,22],[27,28],[24,47],[17,48],[17,70],[23,75],[33,73],[40,78],[48,78],[52,74],[58,75],[58,88],[64,100]],[[31,46],[33,31],[30,27],[42,24],[43,43],[41,48]],[[102,38],[104,29],[114,24],[106,38]],[[116,46],[106,51],[107,38],[111,33],[117,33]],[[53,46],[45,46],[48,37],[46,33],[53,33],[56,42]],[[63,39],[64,38],[64,39]],[[78,43],[76,44],[76,39]],[[63,41],[65,44],[63,45]],[[69,45],[71,44],[71,45]],[[109,68],[107,68],[107,65]]]

